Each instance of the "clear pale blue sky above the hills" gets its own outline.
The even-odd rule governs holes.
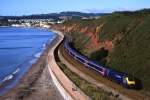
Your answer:
[[[110,13],[150,8],[150,0],[0,0],[0,15],[47,14],[62,11]]]

